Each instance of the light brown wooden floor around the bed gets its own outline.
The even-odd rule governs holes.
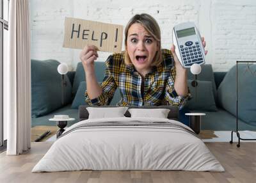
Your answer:
[[[196,171],[64,171],[31,173],[33,166],[51,147],[50,142],[31,143],[22,155],[0,154],[0,182],[256,182],[256,143],[205,143],[225,172]]]

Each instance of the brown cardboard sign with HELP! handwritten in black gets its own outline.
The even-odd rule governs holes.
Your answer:
[[[95,45],[99,51],[121,52],[123,26],[101,22],[65,18],[63,47],[83,49]]]

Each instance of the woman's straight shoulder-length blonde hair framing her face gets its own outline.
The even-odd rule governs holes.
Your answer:
[[[151,63],[151,66],[160,65],[160,63],[163,61],[161,52],[161,31],[159,25],[157,24],[157,21],[147,13],[134,15],[134,17],[132,17],[131,20],[129,20],[127,26],[125,27],[125,64],[132,65],[131,59],[127,52],[127,36],[129,28],[132,26],[132,24],[135,23],[141,24],[141,26],[143,26],[148,31],[150,36],[153,36],[153,38],[157,41],[158,49]]]

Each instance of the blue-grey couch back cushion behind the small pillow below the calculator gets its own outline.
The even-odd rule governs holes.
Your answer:
[[[216,84],[214,81],[214,73],[212,71],[212,65],[211,64],[204,64],[201,65],[202,71],[200,74],[198,74],[197,79],[200,81],[211,81],[212,82],[212,92],[214,94],[214,99],[217,99],[217,90],[216,90]],[[190,69],[188,68],[188,79],[195,80],[195,75],[193,75],[190,72]]]

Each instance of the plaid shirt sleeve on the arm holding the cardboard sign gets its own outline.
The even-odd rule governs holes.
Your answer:
[[[108,106],[113,99],[113,96],[115,94],[115,90],[117,88],[117,85],[115,83],[115,79],[113,77],[113,73],[111,72],[111,69],[109,68],[109,64],[112,63],[113,57],[109,56],[108,60],[106,61],[106,70],[105,70],[105,76],[100,84],[100,87],[102,88],[102,93],[99,97],[95,99],[90,99],[88,97],[87,90],[84,93],[85,95],[85,101],[90,106]]]

